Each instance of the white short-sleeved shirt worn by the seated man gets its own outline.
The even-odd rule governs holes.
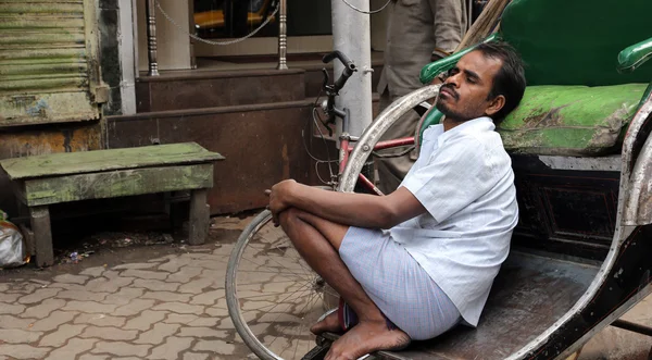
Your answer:
[[[489,117],[424,132],[401,186],[427,212],[388,232],[476,326],[518,222],[512,162]]]

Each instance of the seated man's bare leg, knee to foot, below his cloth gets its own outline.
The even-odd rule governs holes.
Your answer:
[[[280,225],[297,251],[355,311],[359,323],[334,343],[326,359],[358,359],[410,343],[401,330],[390,330],[387,320],[339,257],[349,226],[290,208],[279,215]],[[330,321],[333,318],[330,318]],[[331,325],[325,324],[325,325]]]

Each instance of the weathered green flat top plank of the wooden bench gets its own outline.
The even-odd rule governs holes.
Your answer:
[[[139,148],[52,153],[0,161],[11,179],[96,173],[161,165],[179,165],[223,160],[196,142]]]

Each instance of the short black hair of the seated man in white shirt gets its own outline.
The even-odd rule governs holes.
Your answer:
[[[516,109],[525,92],[525,71],[523,61],[516,50],[504,41],[482,42],[474,51],[480,51],[487,58],[499,59],[502,66],[493,77],[493,85],[488,100],[499,95],[505,97],[505,104],[491,117],[498,125],[512,110]]]

